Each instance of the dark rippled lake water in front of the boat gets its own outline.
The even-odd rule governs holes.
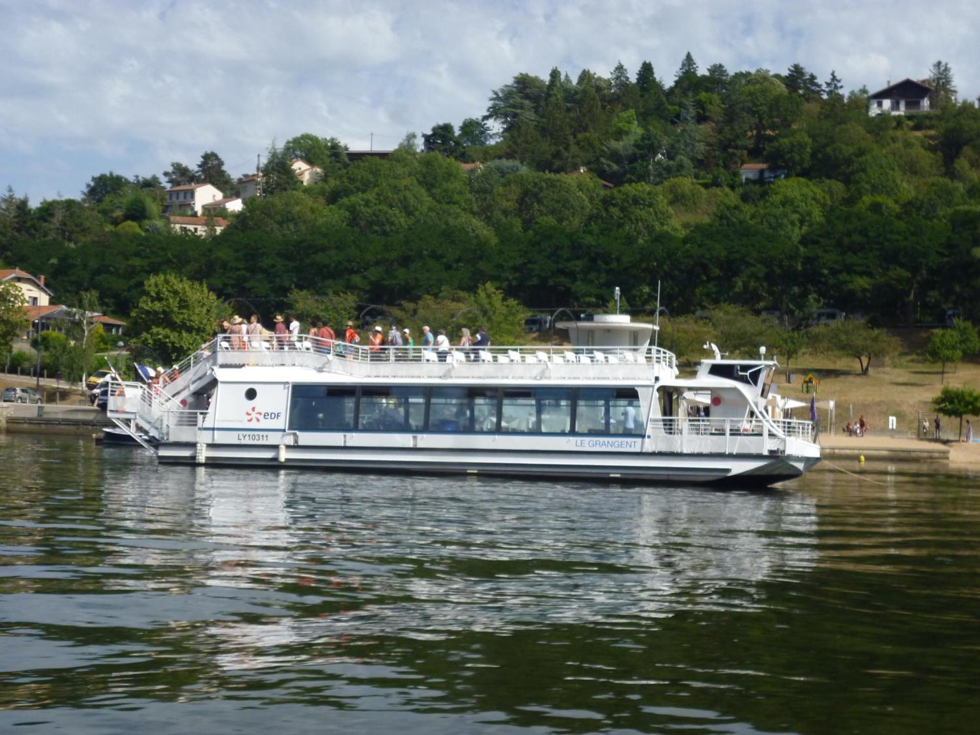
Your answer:
[[[23,435],[0,460],[0,732],[980,720],[977,474],[839,460],[885,484],[739,492],[157,466]]]

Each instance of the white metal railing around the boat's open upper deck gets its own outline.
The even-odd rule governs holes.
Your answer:
[[[212,359],[217,355],[218,358]],[[242,355],[246,365],[307,365],[311,358],[322,362],[345,360],[355,364],[391,365],[578,365],[578,366],[661,366],[676,369],[677,359],[662,347],[569,347],[564,345],[506,345],[437,349],[434,346],[395,347],[389,345],[348,344],[309,335],[223,334],[203,345],[170,370],[159,383],[178,393],[203,363],[233,363]],[[602,368],[599,368],[602,369]],[[590,370],[591,372],[591,370]]]

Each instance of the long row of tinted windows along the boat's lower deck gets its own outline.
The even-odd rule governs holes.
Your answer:
[[[293,431],[640,434],[635,388],[294,385]]]

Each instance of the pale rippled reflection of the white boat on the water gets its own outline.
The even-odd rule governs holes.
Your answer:
[[[166,508],[199,543],[122,547],[116,562],[183,567],[187,594],[225,590],[205,628],[224,668],[347,661],[345,643],[379,635],[751,610],[754,585],[815,555],[813,504],[785,493],[167,471],[166,495],[123,504],[148,515],[128,520]]]

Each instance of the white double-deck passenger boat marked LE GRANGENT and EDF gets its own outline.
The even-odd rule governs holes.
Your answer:
[[[625,346],[441,354],[221,336],[162,387],[113,383],[108,416],[196,465],[768,485],[819,461],[809,421],[770,416],[774,361],[715,351],[679,378],[647,328]]]

